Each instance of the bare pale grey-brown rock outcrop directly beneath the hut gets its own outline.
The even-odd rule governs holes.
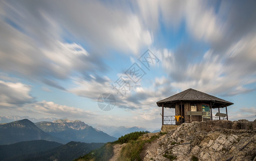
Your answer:
[[[183,123],[145,150],[143,160],[256,160],[256,120]]]

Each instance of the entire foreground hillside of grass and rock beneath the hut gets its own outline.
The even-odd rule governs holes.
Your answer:
[[[76,160],[255,159],[256,120],[216,120],[183,123],[164,133],[130,133]]]

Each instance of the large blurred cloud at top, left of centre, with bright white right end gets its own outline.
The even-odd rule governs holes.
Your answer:
[[[118,6],[120,8],[99,1],[87,1],[86,4],[83,1],[51,1],[51,6],[42,10],[57,13],[51,15],[55,21],[98,53],[115,48],[123,53],[137,54],[142,46],[152,43],[152,35],[131,10]]]

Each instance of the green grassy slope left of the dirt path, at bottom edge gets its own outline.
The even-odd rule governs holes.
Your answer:
[[[106,143],[103,145],[103,147],[92,150],[91,152],[87,153],[87,155],[83,157],[79,157],[75,159],[76,161],[78,160],[109,160],[112,156],[114,155],[113,151],[113,145],[111,143]]]

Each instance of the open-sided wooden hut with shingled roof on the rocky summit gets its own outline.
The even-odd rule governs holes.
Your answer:
[[[228,120],[227,106],[233,103],[194,89],[188,89],[157,102],[162,107],[162,125],[180,125],[184,122]],[[175,108],[175,116],[164,116],[165,108]],[[212,108],[218,108],[213,116]],[[220,113],[225,108],[226,113]]]

